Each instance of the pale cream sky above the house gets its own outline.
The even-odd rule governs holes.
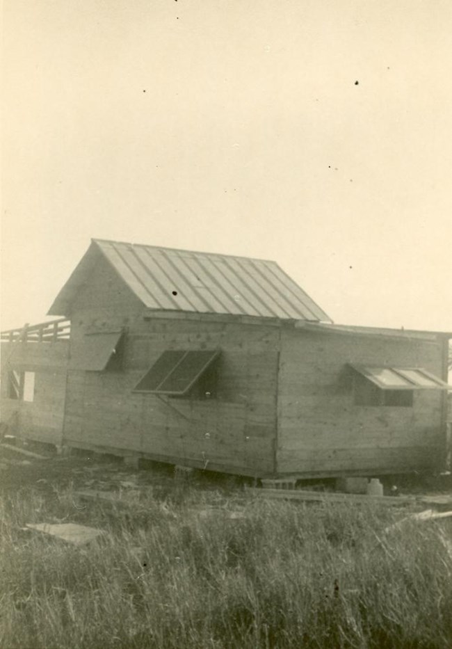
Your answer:
[[[450,0],[3,0],[1,327],[101,238],[451,331],[451,33]]]

